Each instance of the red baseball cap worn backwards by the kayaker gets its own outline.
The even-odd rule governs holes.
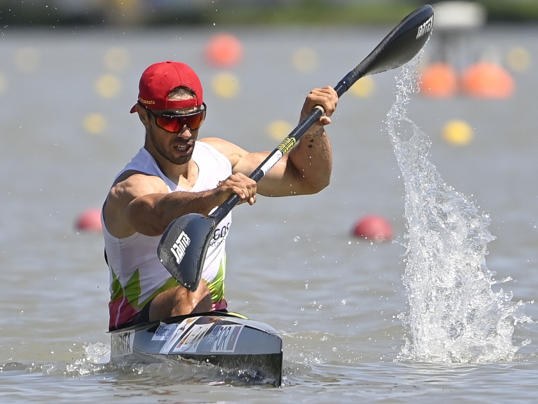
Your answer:
[[[176,87],[193,90],[195,97],[188,100],[168,100],[168,94]],[[154,63],[140,77],[138,101],[151,109],[175,109],[199,107],[203,103],[202,84],[192,68],[185,63],[167,60]],[[136,105],[131,114],[136,112]]]

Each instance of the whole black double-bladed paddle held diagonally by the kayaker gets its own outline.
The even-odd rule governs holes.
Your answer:
[[[357,67],[338,82],[334,87],[338,97],[361,77],[400,67],[413,59],[426,43],[433,22],[434,11],[430,5],[422,6],[401,20]],[[250,178],[256,182],[263,178],[323,114],[322,107],[314,108],[251,173]],[[162,234],[157,255],[168,272],[187,289],[198,288],[213,232],[238,202],[239,197],[233,194],[210,216],[183,215],[172,221]]]

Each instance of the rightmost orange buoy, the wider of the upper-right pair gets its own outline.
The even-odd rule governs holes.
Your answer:
[[[473,97],[504,99],[514,94],[512,76],[501,66],[492,62],[478,62],[462,74],[465,92]]]

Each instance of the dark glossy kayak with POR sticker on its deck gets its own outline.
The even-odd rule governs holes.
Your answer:
[[[110,332],[111,362],[169,360],[246,371],[282,385],[282,338],[271,326],[236,313],[204,312]]]

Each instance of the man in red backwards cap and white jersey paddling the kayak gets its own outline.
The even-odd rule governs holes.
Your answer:
[[[110,269],[109,329],[170,316],[224,310],[226,237],[231,213],[217,226],[194,292],[170,276],[157,257],[161,234],[175,218],[209,213],[232,193],[240,203],[256,194],[312,194],[329,184],[332,154],[324,125],[331,122],[338,96],[332,87],[306,97],[303,119],[320,105],[326,116],[303,135],[258,184],[247,176],[269,154],[250,153],[220,138],[197,140],[206,117],[200,79],[186,64],[168,60],[149,66],[140,78],[131,109],[146,137],[118,173],[103,205],[105,253]]]

